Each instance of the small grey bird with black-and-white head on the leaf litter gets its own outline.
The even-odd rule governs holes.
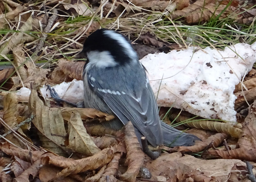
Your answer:
[[[160,120],[146,69],[124,35],[97,30],[85,40],[81,53],[88,61],[84,66],[84,106],[114,114],[117,119],[108,123],[110,127],[120,129],[131,121],[139,142],[145,136],[154,147],[189,146],[200,140]]]

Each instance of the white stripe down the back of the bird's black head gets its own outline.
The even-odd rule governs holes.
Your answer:
[[[131,58],[131,59],[137,59],[137,54],[136,52],[133,50],[131,44],[119,33],[116,33],[113,30],[105,30],[103,31],[103,33],[105,35],[108,35],[108,37],[110,37],[111,39],[116,40],[122,47],[124,47],[124,49],[126,49],[127,55]]]

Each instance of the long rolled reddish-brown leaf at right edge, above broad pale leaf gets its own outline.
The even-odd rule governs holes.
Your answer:
[[[241,147],[228,151],[223,150],[209,150],[208,154],[214,157],[221,157],[223,159],[240,159],[246,161],[256,162],[256,149],[246,149]]]

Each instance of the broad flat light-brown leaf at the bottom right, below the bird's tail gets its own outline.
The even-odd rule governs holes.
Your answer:
[[[234,166],[236,170],[246,170],[246,164],[238,159],[203,160],[190,155],[182,157],[180,152],[163,154],[146,165],[152,176],[161,175],[170,181],[226,181]],[[241,175],[243,179],[245,174],[244,171]]]

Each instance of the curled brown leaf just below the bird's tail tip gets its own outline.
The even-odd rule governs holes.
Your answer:
[[[196,141],[193,146],[181,146],[174,147],[173,150],[177,150],[180,152],[200,152],[204,150],[211,142],[213,142],[214,147],[218,147],[223,140],[227,138],[227,135],[224,133],[217,133],[215,135],[210,136],[208,139],[202,141]]]

